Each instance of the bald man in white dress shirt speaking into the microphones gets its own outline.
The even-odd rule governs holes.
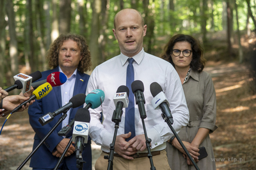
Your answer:
[[[173,136],[170,127],[161,117],[161,110],[154,110],[151,101],[150,84],[153,82],[161,85],[164,94],[170,103],[173,115],[173,128],[176,132],[188,124],[189,113],[186,99],[180,83],[179,75],[172,65],[159,57],[150,55],[143,50],[143,37],[146,35],[147,25],[144,25],[140,12],[133,9],[119,11],[114,20],[113,33],[118,40],[120,55],[95,67],[86,89],[86,94],[94,89],[101,89],[105,93],[102,106],[95,110],[90,109],[90,136],[101,146],[102,154],[95,164],[95,169],[106,169],[108,160],[104,155],[109,153],[109,144],[112,143],[115,131],[115,123],[111,121],[115,104],[113,97],[120,85],[126,84],[127,59],[132,58],[134,62],[134,80],[140,80],[144,85],[145,126],[148,138],[152,139],[151,152],[156,169],[170,169],[167,162],[166,141]],[[131,95],[131,91],[129,92]],[[124,109],[125,110],[125,109]],[[101,123],[100,112],[104,121]],[[115,155],[113,169],[149,169],[150,161],[147,157],[147,146],[143,125],[141,123],[138,106],[134,104],[134,138],[129,141],[125,139],[131,136],[131,132],[125,134],[125,111],[119,125],[115,142]],[[145,154],[146,153],[146,154]]]

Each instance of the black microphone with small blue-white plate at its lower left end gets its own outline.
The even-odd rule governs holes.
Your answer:
[[[67,104],[54,111],[53,113],[46,113],[44,116],[40,117],[38,121],[41,125],[48,124],[53,120],[54,117],[56,117],[60,113],[67,112],[68,110],[70,110],[70,108],[77,108],[84,104],[85,97],[85,94],[77,94],[76,96],[73,96]]]

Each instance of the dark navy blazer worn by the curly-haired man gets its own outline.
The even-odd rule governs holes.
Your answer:
[[[49,74],[56,71],[59,71],[58,67],[42,72],[42,78],[40,78],[40,80],[45,80]],[[84,74],[77,71],[73,96],[76,96],[76,94],[81,93],[85,94],[89,78],[90,76],[88,74]],[[58,108],[61,108],[61,105],[61,87],[59,86],[52,87],[52,91],[49,92],[47,96],[43,97],[42,99],[36,100],[35,103],[29,106],[29,123],[35,131],[35,141],[33,145],[33,150],[36,148],[36,146],[38,146],[41,139],[43,139],[46,136],[46,134],[52,129],[52,127],[54,127],[54,125],[58,122],[62,114],[57,115],[56,117],[54,117],[52,122],[44,126],[42,126],[40,122],[38,122],[38,119],[46,113],[58,110]],[[83,105],[77,108],[70,109],[70,117],[68,122],[74,119],[76,112],[79,108],[83,108]],[[58,136],[58,132],[60,130],[61,124],[58,125],[58,127],[55,129],[55,131],[52,132],[49,138],[45,140],[45,143],[42,146],[40,146],[40,148],[38,148],[35,154],[31,157],[30,167],[40,169],[54,169],[60,158],[53,156],[52,152],[56,150],[56,146],[63,139],[63,136]],[[72,132],[73,129],[68,133],[66,138],[72,138]],[[83,148],[82,153],[83,160],[86,161],[86,163],[83,164],[83,169],[86,170],[92,169],[92,149],[90,144],[91,140],[88,139],[88,143]],[[63,162],[67,164],[68,169],[77,169],[76,153],[74,152],[72,155],[65,157],[63,159]]]

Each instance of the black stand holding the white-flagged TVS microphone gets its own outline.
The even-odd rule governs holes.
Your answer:
[[[112,116],[112,122],[115,122],[115,132],[113,136],[113,141],[109,145],[110,151],[109,155],[104,155],[104,159],[108,159],[108,170],[113,170],[113,159],[114,159],[114,152],[115,152],[115,142],[116,142],[116,135],[117,131],[119,129],[119,123],[121,122],[121,117],[123,114],[123,108],[124,103],[117,103],[116,108],[119,108],[118,111],[114,110],[113,116]]]

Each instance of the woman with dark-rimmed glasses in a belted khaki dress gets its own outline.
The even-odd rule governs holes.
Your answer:
[[[175,67],[188,104],[189,124],[178,135],[200,169],[216,169],[209,138],[217,129],[216,94],[211,76],[203,71],[203,49],[192,36],[177,34],[168,41],[161,57]],[[202,146],[206,152],[199,149]],[[171,169],[195,169],[175,136],[168,141],[166,152]]]

